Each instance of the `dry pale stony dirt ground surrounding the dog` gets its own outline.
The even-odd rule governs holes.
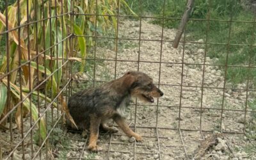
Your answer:
[[[139,21],[120,20],[118,37],[137,39],[140,38],[139,31]],[[224,71],[211,65],[214,64],[214,61],[218,61],[217,58],[211,59],[206,56],[205,88],[201,90],[203,66],[195,65],[195,63],[204,63],[205,45],[185,45],[184,63],[190,65],[183,65],[182,75],[182,64],[180,64],[183,54],[182,43],[178,49],[172,48],[172,42],[161,44],[161,31],[161,26],[143,21],[141,26],[141,39],[143,40],[141,42],[119,40],[118,52],[115,52],[114,49],[115,40],[109,39],[106,42],[106,40],[98,38],[99,45],[96,45],[96,58],[109,60],[96,61],[99,63],[95,67],[97,81],[109,81],[115,76],[122,76],[127,70],[139,69],[151,76],[154,83],[159,83],[159,88],[164,92],[164,96],[155,100],[154,104],[143,104],[138,100],[136,106],[134,100],[129,108],[127,123],[143,136],[143,142],[138,143],[133,138],[128,138],[122,131],[112,135],[100,132],[100,151],[92,153],[86,150],[87,140],[81,136],[80,132],[65,131],[63,133],[61,130],[61,133],[56,133],[61,137],[61,142],[57,143],[56,148],[52,151],[56,159],[79,159],[81,157],[81,159],[169,160],[193,159],[196,154],[200,155],[202,159],[256,159],[256,151],[252,145],[255,144],[255,140],[250,140],[244,134],[239,134],[239,132],[243,132],[244,127],[247,132],[255,134],[255,131],[250,131],[247,127],[247,124],[256,125],[255,120],[252,120],[250,113],[246,113],[246,123],[244,123],[244,112],[230,110],[245,109],[246,92],[243,89],[246,89],[246,84],[237,86],[237,89],[242,90],[225,90],[223,93],[221,88],[224,86]],[[164,28],[163,40],[173,40],[175,33],[175,29]],[[198,42],[204,42],[204,40],[198,40]],[[139,51],[140,56],[138,55]],[[115,58],[118,61],[115,61]],[[139,63],[138,58],[140,58]],[[181,75],[183,76],[182,80]],[[79,78],[92,80],[92,73],[88,72]],[[181,81],[183,87],[180,100]],[[78,81],[78,83],[88,82]],[[74,88],[77,87],[75,84]],[[88,85],[90,84],[92,83],[88,83]],[[227,82],[225,86],[231,87],[232,85]],[[74,90],[81,90],[81,88],[77,87]],[[225,95],[225,99],[222,99],[223,95]],[[248,92],[248,100],[252,100],[253,97],[255,97],[255,93]],[[200,109],[201,107],[204,109]],[[233,133],[225,133],[218,138],[211,139],[213,132],[218,134],[220,131],[221,110],[218,109],[221,108],[225,109],[222,114],[221,129]],[[29,123],[28,120],[26,123]],[[178,127],[180,130],[177,130]],[[202,133],[199,131],[200,129],[202,129]],[[3,138],[4,135],[8,137],[10,133],[1,132]],[[210,138],[209,143],[207,138]],[[215,142],[214,145],[211,145],[212,141]],[[207,149],[204,150],[204,148]],[[19,154],[20,152],[17,150],[15,155]]]

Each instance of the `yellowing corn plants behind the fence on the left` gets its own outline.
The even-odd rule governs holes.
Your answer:
[[[21,116],[28,115],[25,113],[31,112],[31,118],[33,118],[33,120],[38,120],[38,108],[36,108],[36,105],[31,101],[31,99],[26,98],[26,95],[30,92],[29,83],[31,88],[35,88],[36,82],[34,79],[36,76],[37,81],[42,81],[44,80],[44,74],[49,77],[54,71],[56,71],[52,78],[47,79],[46,84],[46,92],[52,93],[51,97],[47,97],[47,95],[36,91],[31,94],[32,97],[39,95],[39,97],[46,99],[47,102],[51,102],[52,98],[56,97],[58,90],[60,89],[61,79],[63,78],[62,73],[64,72],[64,68],[61,66],[64,62],[62,58],[65,58],[65,60],[67,58],[67,60],[80,61],[81,67],[79,71],[84,72],[86,63],[84,59],[87,56],[88,49],[93,46],[93,39],[92,37],[85,38],[83,35],[92,36],[95,32],[104,34],[108,29],[116,29],[116,17],[98,16],[95,18],[94,16],[85,16],[83,14],[98,13],[102,15],[115,15],[118,5],[124,6],[125,10],[129,10],[129,12],[133,13],[124,0],[98,0],[97,5],[95,0],[73,0],[72,3],[71,0],[20,0],[19,13],[17,2],[8,6],[8,10],[4,10],[3,13],[0,12],[0,33],[6,30],[6,12],[8,12],[9,30],[17,27],[19,24],[26,24],[28,21],[35,22],[36,20],[60,15],[61,13],[74,11],[74,13],[81,14],[67,14],[58,18],[52,17],[51,19],[45,19],[43,22],[30,24],[29,28],[24,26],[20,28],[20,35],[17,29],[8,33],[9,38],[6,40],[6,43],[10,46],[8,48],[10,58],[7,60],[6,49],[3,51],[0,50],[0,56],[2,59],[0,61],[0,76],[7,73],[7,61],[10,62],[9,70],[15,70],[19,67],[19,63],[24,66],[21,67],[21,75],[19,74],[19,70],[15,70],[10,73],[9,86],[6,76],[0,79],[0,120],[10,112],[11,109],[6,108],[7,88],[10,88],[10,102],[12,103],[10,106],[17,105],[17,103],[20,102],[20,97],[24,99],[24,102],[22,102],[22,109],[21,106],[18,106],[15,112],[17,128],[20,130]],[[27,15],[27,13],[29,15]],[[18,20],[20,22],[18,22]],[[95,26],[95,24],[97,26]],[[61,42],[63,38],[70,36],[72,33],[82,36],[77,36],[74,41],[71,41],[71,38],[67,38],[67,43],[63,42],[58,45],[54,45],[57,42]],[[0,41],[3,37],[4,35],[0,36]],[[31,58],[34,58],[40,52],[45,52],[45,54],[40,54],[38,58],[28,63]],[[20,58],[21,60],[19,60]],[[31,77],[31,79],[29,79],[29,77]],[[21,90],[20,86],[22,86]],[[56,107],[56,103],[53,103],[53,106]],[[22,113],[21,110],[23,110]],[[1,126],[6,125],[6,119],[7,118],[5,118]],[[44,140],[47,136],[47,131],[45,129],[43,117],[40,118],[39,124],[40,137]]]

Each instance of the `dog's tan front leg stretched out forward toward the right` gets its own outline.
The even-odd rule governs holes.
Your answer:
[[[136,141],[142,141],[140,134],[133,132],[126,124],[125,119],[122,116],[116,115],[113,119],[115,120],[116,124],[125,132],[125,134],[133,136]]]

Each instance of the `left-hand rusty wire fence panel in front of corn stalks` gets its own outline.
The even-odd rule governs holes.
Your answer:
[[[52,159],[54,129],[63,124],[58,97],[70,83],[72,1],[3,2],[0,159]]]

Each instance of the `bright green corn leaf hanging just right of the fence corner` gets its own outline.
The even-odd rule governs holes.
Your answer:
[[[83,37],[83,32],[81,31],[79,26],[77,26],[76,24],[73,24],[73,26],[74,26],[74,31],[76,35],[82,35],[82,36],[77,36],[77,39],[78,39],[78,44],[81,51],[81,58],[86,58],[86,40]],[[85,66],[85,60],[82,61],[80,72],[84,72],[84,66]]]

